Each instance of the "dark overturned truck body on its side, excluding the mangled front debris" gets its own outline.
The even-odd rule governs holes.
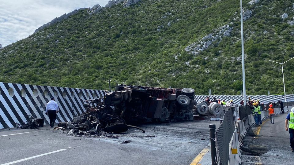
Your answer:
[[[118,108],[127,123],[193,120],[194,90],[117,85],[115,92],[131,90],[130,101]]]

